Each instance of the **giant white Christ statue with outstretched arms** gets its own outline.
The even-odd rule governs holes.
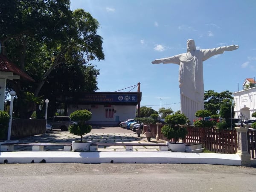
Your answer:
[[[172,57],[156,59],[152,64],[178,64],[180,84],[180,112],[184,113],[193,124],[195,113],[204,109],[204,77],[203,61],[224,51],[238,49],[238,45],[230,45],[213,49],[196,50],[195,41],[187,41],[187,52]]]

